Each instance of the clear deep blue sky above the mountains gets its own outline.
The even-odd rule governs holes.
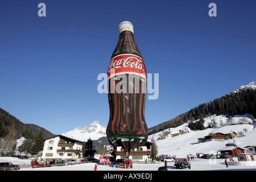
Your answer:
[[[254,0],[1,0],[0,107],[54,134],[107,125],[97,76],[107,73],[123,20],[134,25],[147,73],[159,73],[148,127],[256,81]]]

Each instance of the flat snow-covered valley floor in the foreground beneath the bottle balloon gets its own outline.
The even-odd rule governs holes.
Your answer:
[[[234,158],[237,161],[237,158]],[[22,166],[23,164],[30,164],[29,159],[17,159],[17,158],[0,158],[0,162],[11,162]],[[256,166],[232,166],[226,167],[224,159],[199,159],[190,160],[191,169],[174,169],[174,162],[168,162],[168,171],[224,171],[224,170],[255,170]],[[56,167],[46,167],[46,168],[31,168],[22,167],[19,171],[94,171],[94,166],[97,164],[97,171],[158,171],[159,167],[164,166],[163,162],[155,164],[138,164],[134,163],[133,168],[113,168],[110,166],[104,166],[100,163],[84,163],[84,164],[74,164],[69,166],[56,166]]]

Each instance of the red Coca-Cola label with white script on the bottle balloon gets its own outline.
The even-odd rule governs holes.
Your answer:
[[[126,73],[146,77],[146,69],[142,58],[131,54],[113,57],[109,64],[108,77]]]

